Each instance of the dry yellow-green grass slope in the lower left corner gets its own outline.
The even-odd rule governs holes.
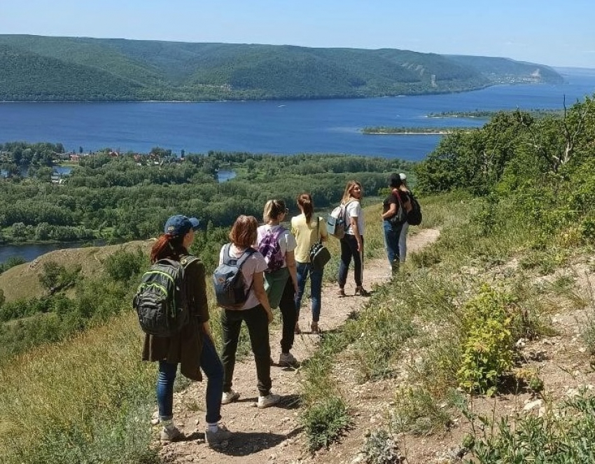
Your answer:
[[[156,462],[155,365],[140,346],[129,313],[0,367],[3,463]]]

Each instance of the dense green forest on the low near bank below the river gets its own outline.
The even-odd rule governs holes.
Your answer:
[[[144,156],[83,156],[62,184],[54,184],[48,165],[60,151],[62,145],[0,145],[1,166],[12,174],[0,182],[1,242],[148,238],[176,213],[200,217],[205,225],[228,226],[239,214],[260,217],[270,198],[293,208],[306,188],[304,176],[314,203],[328,207],[339,201],[354,176],[375,195],[386,186],[388,172],[412,166],[365,156],[215,151],[188,154],[182,161],[155,147]],[[29,177],[18,175],[23,167],[29,167]],[[220,168],[234,170],[237,177],[219,183]]]

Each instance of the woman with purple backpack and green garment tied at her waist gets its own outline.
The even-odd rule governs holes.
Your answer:
[[[288,213],[283,200],[268,200],[262,219],[265,224],[258,228],[258,250],[265,257],[265,289],[272,308],[279,306],[283,319],[280,366],[295,366],[297,360],[290,353],[293,348],[295,321],[295,293],[297,271],[295,267],[295,238],[281,225]]]

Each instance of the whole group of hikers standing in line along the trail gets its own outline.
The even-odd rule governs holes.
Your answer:
[[[391,270],[398,271],[399,262],[405,261],[407,226],[391,218],[411,208],[404,174],[393,174],[388,179],[390,193],[383,202],[383,228],[388,261]],[[347,182],[342,197],[345,216],[345,234],[340,239],[341,257],[337,280],[338,296],[345,296],[345,284],[353,260],[355,294],[369,296],[363,287],[363,246],[365,221],[360,200],[363,187],[359,182]],[[205,440],[209,446],[219,446],[232,437],[221,421],[221,405],[235,402],[240,393],[233,390],[232,379],[242,322],[246,323],[254,355],[258,388],[258,408],[278,404],[280,395],[272,393],[271,365],[274,361],[269,344],[269,324],[279,308],[282,319],[281,352],[276,363],[281,367],[297,367],[299,362],[290,350],[295,334],[302,331],[298,323],[300,306],[307,279],[310,280],[312,334],[320,332],[321,291],[323,268],[311,262],[311,247],[327,239],[326,220],[314,217],[314,204],[309,193],[297,196],[300,214],[291,218],[290,229],[283,226],[288,208],[283,200],[268,200],[263,211],[263,224],[259,226],[253,216],[239,216],[229,233],[230,243],[223,245],[219,264],[240,262],[238,272],[243,277],[245,299],[241,306],[223,307],[221,328],[223,346],[219,357],[211,327],[207,301],[207,276],[200,259],[191,257],[188,250],[193,244],[199,220],[181,214],[165,223],[164,233],[151,249],[151,263],[161,259],[187,262],[184,279],[189,322],[171,336],[146,334],[143,360],[158,362],[157,401],[161,424],[160,441],[174,442],[183,434],[173,422],[174,381],[180,366],[183,376],[202,381],[207,376]],[[190,257],[190,259],[189,259]],[[220,305],[221,306],[221,305]],[[201,372],[202,371],[202,372]]]

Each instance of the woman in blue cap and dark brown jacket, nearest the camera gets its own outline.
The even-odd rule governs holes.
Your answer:
[[[207,376],[207,431],[205,437],[209,446],[217,446],[229,439],[231,433],[221,420],[221,395],[223,393],[223,365],[217,354],[209,326],[209,304],[204,280],[204,264],[190,256],[195,231],[199,225],[195,217],[181,214],[172,216],[165,223],[165,233],[158,238],[151,249],[151,263],[159,259],[174,259],[186,266],[190,322],[174,336],[159,337],[146,335],[143,360],[159,362],[157,379],[157,402],[159,419],[162,423],[162,443],[174,442],[183,437],[174,425],[173,402],[174,380],[178,364],[181,373],[195,381],[202,381],[200,369]]]

